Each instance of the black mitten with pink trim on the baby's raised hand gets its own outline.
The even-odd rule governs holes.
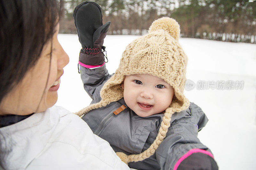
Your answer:
[[[102,24],[101,8],[92,1],[85,1],[77,5],[73,18],[82,45],[79,64],[87,68],[103,65],[105,62],[103,42],[111,22],[108,21],[106,24]]]

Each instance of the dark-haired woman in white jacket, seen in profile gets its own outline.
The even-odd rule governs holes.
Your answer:
[[[0,0],[0,169],[129,169],[77,115],[53,106],[68,55],[62,1]]]

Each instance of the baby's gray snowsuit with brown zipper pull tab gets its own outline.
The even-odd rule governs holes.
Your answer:
[[[101,100],[100,89],[113,75],[108,74],[106,66],[89,69],[80,66],[81,78],[85,91],[91,96],[92,103]],[[91,103],[91,104],[92,104]],[[119,114],[113,114],[125,105]],[[92,110],[82,119],[90,126],[93,133],[109,142],[115,152],[139,154],[145,151],[156,139],[164,114],[139,117],[124,102],[124,98],[112,102],[106,107]],[[130,162],[129,167],[144,170],[173,169],[185,153],[194,148],[211,152],[197,138],[208,119],[204,112],[194,103],[187,110],[174,113],[166,138],[159,145],[154,155],[138,162]]]

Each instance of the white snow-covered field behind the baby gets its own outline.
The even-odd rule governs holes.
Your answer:
[[[137,37],[105,38],[110,74],[125,47]],[[74,34],[59,34],[58,39],[70,61],[61,77],[56,105],[76,112],[91,102],[77,70],[81,45]],[[209,118],[198,138],[212,150],[220,170],[256,169],[256,45],[190,38],[180,38],[180,44],[188,56],[190,90],[184,91],[185,96]],[[195,85],[194,89],[189,85]]]

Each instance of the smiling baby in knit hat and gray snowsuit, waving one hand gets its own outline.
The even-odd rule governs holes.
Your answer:
[[[82,49],[84,89],[92,103],[76,114],[107,140],[130,168],[218,169],[211,151],[197,138],[208,119],[184,96],[187,56],[179,44],[180,26],[157,19],[148,34],[125,49],[115,74],[104,62],[100,6],[79,4],[73,14]]]

